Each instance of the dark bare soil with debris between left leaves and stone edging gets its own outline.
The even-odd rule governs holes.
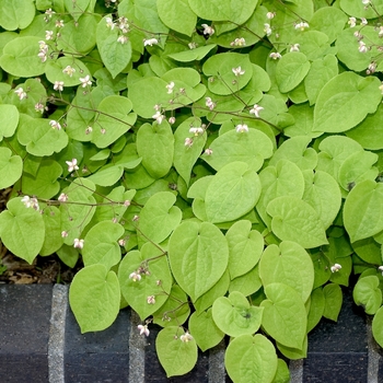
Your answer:
[[[11,188],[0,190],[0,212],[5,210]],[[70,283],[80,269],[69,268],[57,255],[38,256],[32,265],[16,257],[0,241],[0,283]]]

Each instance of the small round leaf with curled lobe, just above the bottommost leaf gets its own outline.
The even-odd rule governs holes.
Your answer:
[[[228,298],[216,299],[212,305],[212,318],[220,330],[237,337],[258,330],[263,311],[264,307],[252,306],[245,295],[233,291]]]

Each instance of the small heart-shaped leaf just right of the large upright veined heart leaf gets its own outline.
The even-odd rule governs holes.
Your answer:
[[[236,221],[227,232],[230,278],[242,276],[258,263],[264,249],[264,237],[247,220]]]

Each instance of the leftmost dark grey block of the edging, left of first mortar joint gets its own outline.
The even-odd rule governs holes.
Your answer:
[[[0,286],[0,382],[48,382],[53,286]]]

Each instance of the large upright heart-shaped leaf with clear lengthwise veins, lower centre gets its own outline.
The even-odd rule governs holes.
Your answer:
[[[209,222],[185,221],[169,242],[175,280],[196,301],[212,288],[228,266],[229,247],[222,232]]]

